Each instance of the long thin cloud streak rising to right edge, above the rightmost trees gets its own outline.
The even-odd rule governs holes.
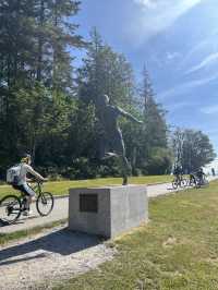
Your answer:
[[[199,87],[199,86],[204,86],[204,85],[206,85],[206,84],[208,84],[215,80],[218,80],[218,74],[215,74],[213,76],[208,76],[205,78],[199,78],[199,80],[186,82],[182,85],[178,85],[178,86],[172,87],[172,88],[165,90],[162,93],[158,93],[157,96],[158,96],[159,100],[164,100],[164,99],[167,99],[167,98],[170,98],[173,96],[187,94],[187,92],[190,89],[193,89],[193,88]]]

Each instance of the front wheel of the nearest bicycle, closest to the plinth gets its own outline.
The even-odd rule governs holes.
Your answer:
[[[36,201],[36,208],[40,216],[48,216],[53,209],[53,195],[50,192],[41,192]]]

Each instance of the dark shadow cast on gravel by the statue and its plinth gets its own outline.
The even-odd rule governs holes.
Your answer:
[[[68,228],[41,238],[0,250],[0,267],[23,261],[41,258],[50,253],[71,255],[100,243],[97,235],[73,232]]]

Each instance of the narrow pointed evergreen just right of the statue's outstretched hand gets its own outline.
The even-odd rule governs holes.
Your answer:
[[[165,173],[170,167],[170,153],[167,141],[167,123],[165,110],[156,102],[155,93],[146,68],[143,70],[143,85],[140,89],[140,100],[144,129],[141,133],[138,167],[144,172]]]

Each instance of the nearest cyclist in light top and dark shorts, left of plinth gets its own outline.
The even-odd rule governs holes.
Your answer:
[[[20,171],[20,177],[19,177],[19,182],[17,185],[12,185],[15,190],[19,190],[25,194],[26,197],[26,206],[24,210],[24,215],[28,216],[32,215],[33,212],[31,210],[31,203],[33,200],[33,196],[35,195],[35,192],[33,189],[28,185],[27,181],[31,181],[27,179],[27,173],[31,173],[35,178],[41,181],[47,181],[44,177],[41,177],[38,172],[36,172],[33,167],[31,166],[32,164],[32,158],[29,154],[25,154],[23,158],[21,159],[21,171]]]

